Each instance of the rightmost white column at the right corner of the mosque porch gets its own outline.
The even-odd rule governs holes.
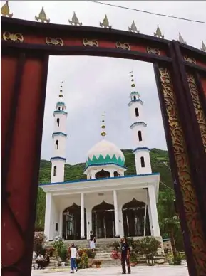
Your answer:
[[[153,234],[155,237],[160,237],[160,226],[158,221],[158,209],[155,198],[155,187],[150,185],[148,187],[149,198],[150,198],[150,211],[153,221]]]

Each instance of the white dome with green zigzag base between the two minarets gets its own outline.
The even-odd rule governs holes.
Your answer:
[[[94,164],[113,163],[120,166],[125,164],[123,152],[115,144],[103,139],[94,145],[87,154],[86,166]]]

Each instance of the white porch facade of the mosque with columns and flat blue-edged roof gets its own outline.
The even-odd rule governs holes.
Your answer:
[[[114,206],[115,236],[123,237],[125,235],[123,206],[135,198],[136,201],[143,202],[147,206],[150,235],[158,238],[160,228],[156,203],[158,202],[159,181],[159,174],[149,174],[148,176],[122,176],[110,179],[69,181],[60,184],[41,184],[41,188],[46,192],[45,235],[48,240],[53,240],[56,235],[62,236],[63,211],[75,203],[81,206],[81,238],[88,239],[90,231],[93,230],[92,210],[105,201]],[[86,208],[86,221],[83,208]],[[84,233],[85,226],[86,233]]]

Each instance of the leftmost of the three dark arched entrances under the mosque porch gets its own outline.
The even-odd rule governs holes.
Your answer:
[[[66,208],[63,213],[62,238],[64,240],[80,240],[81,239],[81,206],[73,203],[72,206]],[[86,209],[84,209],[84,221],[86,221]],[[86,233],[86,223],[85,230]]]

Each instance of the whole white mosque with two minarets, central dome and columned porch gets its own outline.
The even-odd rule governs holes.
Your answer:
[[[105,118],[101,120],[101,141],[86,157],[86,179],[64,181],[66,164],[66,105],[56,103],[53,112],[53,156],[51,183],[40,184],[46,192],[44,233],[48,240],[56,235],[64,240],[88,239],[91,230],[97,239],[154,236],[160,239],[158,223],[158,191],[160,174],[152,173],[150,149],[145,142],[143,101],[135,90],[128,110],[135,142],[136,175],[125,176],[125,157],[113,143],[105,139]],[[62,85],[61,85],[62,95]]]

